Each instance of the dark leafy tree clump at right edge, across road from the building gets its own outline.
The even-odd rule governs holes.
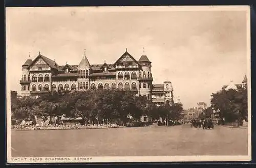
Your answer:
[[[247,120],[247,87],[240,86],[237,90],[223,89],[220,92],[212,93],[210,102],[211,108],[227,122],[234,122],[237,119]],[[208,111],[206,112],[208,113]]]

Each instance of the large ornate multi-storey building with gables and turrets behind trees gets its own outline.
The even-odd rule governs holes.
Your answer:
[[[78,65],[58,65],[44,55],[22,65],[22,96],[39,96],[50,91],[89,89],[131,90],[157,105],[173,103],[172,82],[153,84],[152,63],[146,55],[139,61],[126,51],[114,64],[91,65],[84,52]]]

